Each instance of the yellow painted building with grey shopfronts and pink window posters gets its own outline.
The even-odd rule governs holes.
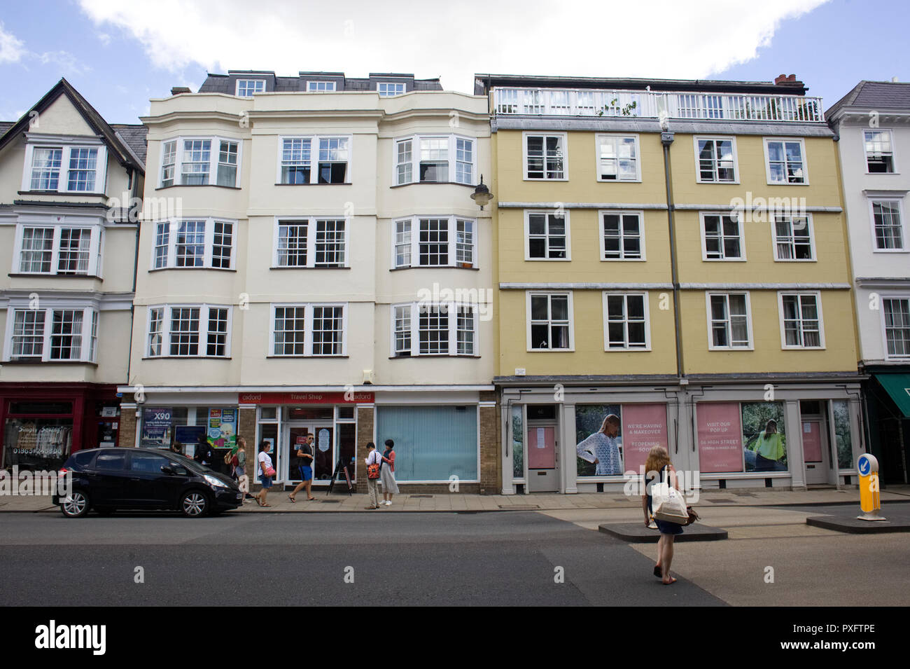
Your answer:
[[[502,491],[855,482],[834,137],[774,83],[478,75],[499,239]]]

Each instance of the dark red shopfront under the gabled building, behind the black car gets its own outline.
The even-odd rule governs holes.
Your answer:
[[[59,469],[76,451],[116,446],[119,424],[115,385],[0,384],[0,467]]]

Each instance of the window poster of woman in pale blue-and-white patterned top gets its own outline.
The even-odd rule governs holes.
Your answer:
[[[622,476],[619,404],[575,406],[576,467],[581,476]]]

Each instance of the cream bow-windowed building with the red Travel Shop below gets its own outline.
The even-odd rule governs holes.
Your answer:
[[[277,481],[295,483],[312,434],[321,485],[392,439],[401,482],[496,489],[496,236],[470,197],[491,171],[486,97],[410,75],[248,71],[173,93],[142,119],[120,389],[136,444],[191,452],[200,433],[240,433],[251,453],[271,441]]]

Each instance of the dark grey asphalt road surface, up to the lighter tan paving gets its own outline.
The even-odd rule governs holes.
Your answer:
[[[625,542],[536,512],[0,515],[7,606],[723,605],[652,568]]]

